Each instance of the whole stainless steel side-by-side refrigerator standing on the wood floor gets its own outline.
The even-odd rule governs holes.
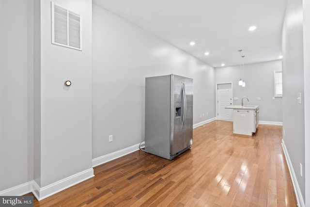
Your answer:
[[[145,78],[145,152],[173,159],[193,143],[193,80]]]

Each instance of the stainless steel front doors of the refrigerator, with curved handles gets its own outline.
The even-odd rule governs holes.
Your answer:
[[[171,139],[170,154],[174,155],[192,144],[193,81],[171,75]]]

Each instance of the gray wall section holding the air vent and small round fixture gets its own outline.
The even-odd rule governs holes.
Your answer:
[[[54,2],[80,13],[83,50],[51,44],[51,2],[41,0],[41,188],[92,168],[92,0]]]

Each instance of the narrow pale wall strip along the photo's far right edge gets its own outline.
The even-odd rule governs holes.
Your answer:
[[[310,2],[303,0],[303,40],[304,57],[310,57]],[[306,12],[307,11],[307,12]],[[305,106],[310,106],[310,58],[304,58],[304,93]],[[305,107],[305,195],[310,195],[310,107]],[[310,206],[310,199],[306,199]]]

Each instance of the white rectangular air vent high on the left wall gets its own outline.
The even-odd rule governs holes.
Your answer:
[[[62,6],[52,5],[52,43],[82,50],[81,17]]]

